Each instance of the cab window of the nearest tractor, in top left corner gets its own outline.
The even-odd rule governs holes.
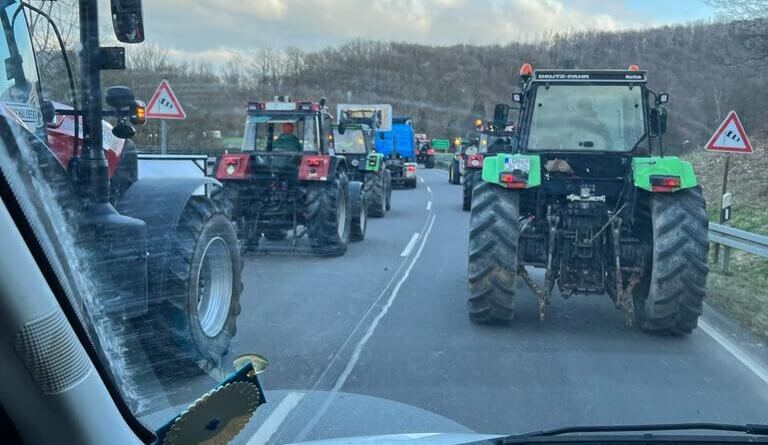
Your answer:
[[[21,2],[3,2],[0,23],[0,103],[30,128],[42,128],[37,67]]]

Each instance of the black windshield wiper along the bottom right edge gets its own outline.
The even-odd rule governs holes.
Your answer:
[[[646,425],[590,425],[568,426],[551,430],[533,431],[525,434],[515,434],[504,438],[508,440],[525,440],[531,437],[553,437],[573,433],[632,433],[641,431],[733,431],[758,436],[768,436],[768,425],[747,423],[743,425],[729,423],[659,423]]]

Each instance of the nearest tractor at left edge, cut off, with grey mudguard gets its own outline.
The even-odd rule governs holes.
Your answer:
[[[61,265],[58,279],[77,314],[93,321],[83,323],[91,340],[126,342],[96,348],[120,357],[105,363],[210,372],[227,353],[240,312],[235,229],[220,194],[212,195],[220,186],[215,179],[138,177],[130,137],[144,108],[127,87],[108,88],[102,97],[101,71],[123,69],[125,56],[123,48],[100,46],[98,3],[79,0],[79,89],[62,49],[73,104],[67,107],[43,98],[27,10],[48,19],[58,35],[55,23],[31,5],[4,2],[0,39],[9,82],[0,87],[0,136],[18,165],[31,163],[38,187],[50,190],[50,202],[37,204],[60,209],[61,220],[49,221],[62,234],[52,248],[78,254]],[[111,0],[111,13],[118,40],[143,41],[139,0]],[[114,127],[104,118],[115,119]],[[67,234],[75,234],[70,246]],[[114,335],[126,329],[135,335]],[[139,373],[110,371],[131,399],[139,385],[129,380]]]

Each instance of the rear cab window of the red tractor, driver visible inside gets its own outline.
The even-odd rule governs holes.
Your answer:
[[[243,151],[301,152],[317,150],[317,129],[303,116],[248,116]]]

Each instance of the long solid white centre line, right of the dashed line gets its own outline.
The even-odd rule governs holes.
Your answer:
[[[389,309],[392,307],[392,304],[395,302],[395,298],[397,298],[397,294],[400,292],[400,288],[403,286],[403,283],[408,279],[408,277],[411,275],[411,270],[413,270],[413,266],[416,265],[416,261],[421,256],[421,252],[424,250],[424,246],[427,244],[427,238],[429,238],[429,233],[432,231],[432,226],[435,225],[435,218],[436,215],[432,215],[432,218],[430,219],[429,226],[427,227],[427,230],[424,232],[424,236],[421,238],[421,244],[419,245],[419,250],[416,251],[416,255],[413,256],[411,259],[411,263],[408,265],[408,268],[405,269],[405,272],[403,273],[403,276],[400,278],[400,280],[395,284],[395,287],[392,289],[392,293],[390,293],[389,298],[387,299],[387,302],[384,304],[384,306],[381,308],[381,311],[376,315],[376,318],[371,321],[370,326],[368,326],[368,329],[366,329],[365,334],[360,339],[360,341],[355,345],[355,349],[352,352],[352,356],[349,358],[349,361],[347,362],[347,366],[344,368],[344,371],[339,375],[339,378],[336,380],[336,383],[333,385],[333,388],[331,388],[330,391],[328,391],[328,397],[326,397],[325,401],[323,402],[322,406],[315,412],[315,415],[312,417],[312,420],[310,420],[306,425],[304,425],[304,428],[299,432],[299,434],[294,438],[294,442],[301,442],[305,440],[306,436],[312,431],[312,429],[317,425],[317,422],[320,421],[320,419],[325,415],[326,411],[328,411],[328,408],[331,406],[331,403],[333,403],[333,400],[336,398],[336,394],[341,391],[342,386],[344,386],[344,383],[346,383],[347,378],[349,378],[349,375],[352,373],[352,370],[355,368],[355,365],[357,365],[358,360],[360,360],[360,354],[363,352],[363,348],[365,348],[366,343],[368,343],[368,340],[371,339],[373,336],[373,333],[376,331],[376,327],[379,325],[379,322],[384,318],[385,315],[389,312]]]

